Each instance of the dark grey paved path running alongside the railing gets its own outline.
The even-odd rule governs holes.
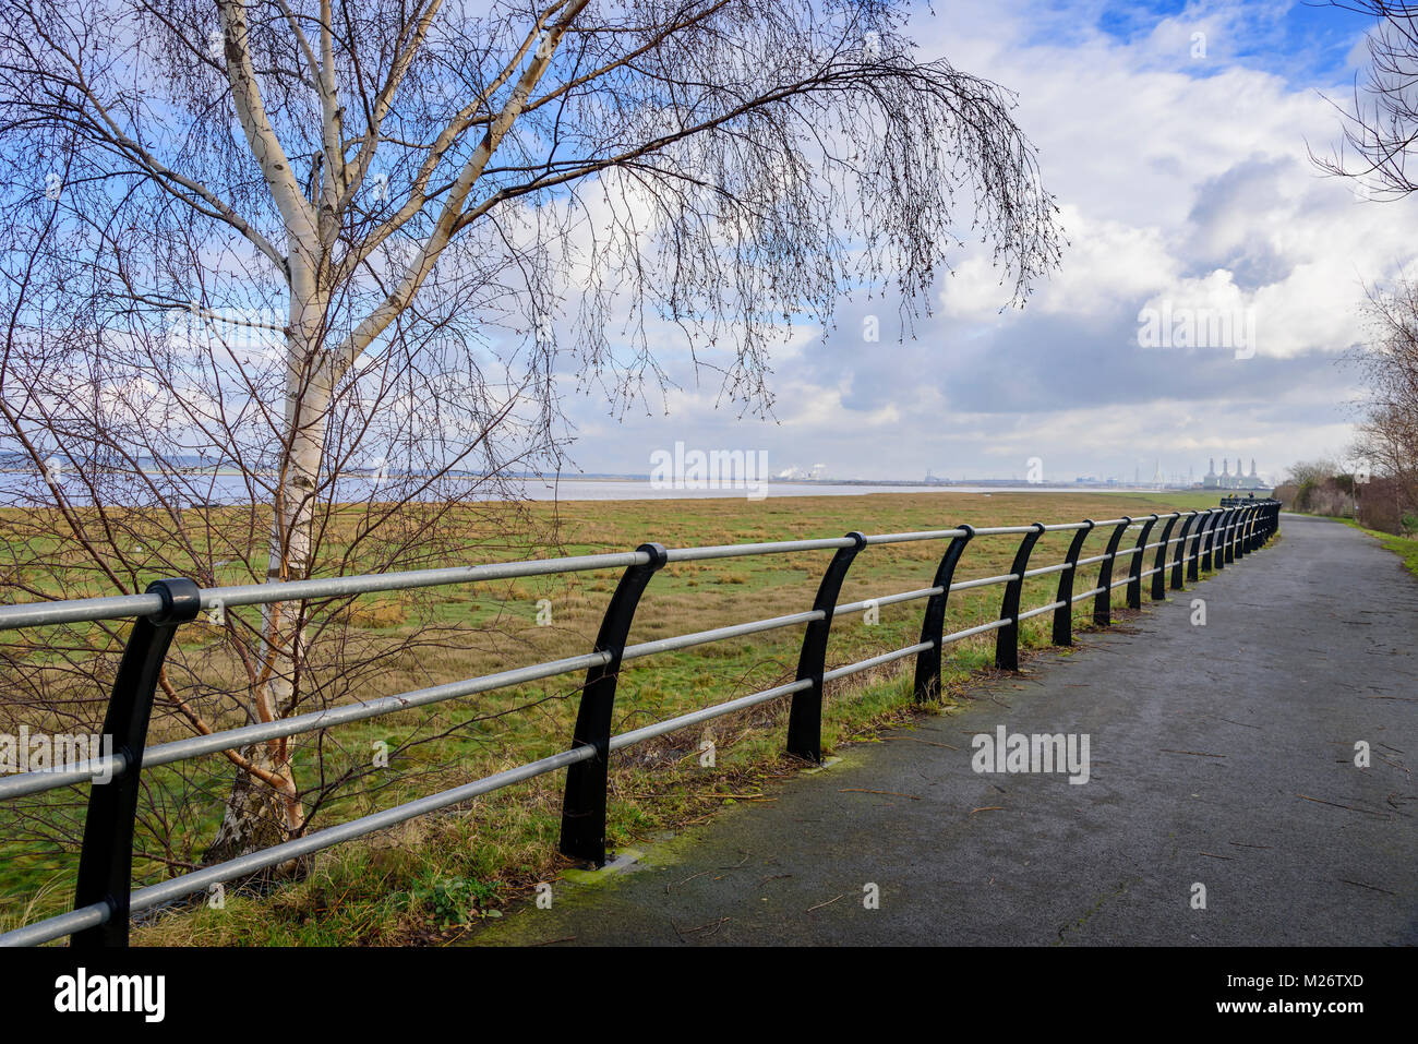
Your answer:
[[[1285,516],[1027,668],[475,942],[1418,943],[1418,580],[1370,538]],[[1089,782],[973,772],[1000,725],[1088,733]]]

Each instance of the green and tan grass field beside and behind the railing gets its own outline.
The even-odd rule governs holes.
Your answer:
[[[559,553],[625,550],[645,540],[666,546],[742,543],[835,536],[851,529],[910,532],[974,526],[1062,522],[1082,518],[1143,516],[1174,508],[1212,506],[1205,494],[873,494],[865,496],[621,501],[536,505],[556,512],[563,533]],[[1046,533],[1031,566],[1061,562],[1072,533]],[[1153,540],[1160,529],[1151,533]],[[1107,532],[1089,536],[1082,555],[1102,552]],[[841,600],[927,587],[944,540],[872,546],[844,584]],[[977,538],[956,580],[1008,572],[1015,536]],[[732,623],[800,611],[813,597],[830,552],[676,563],[655,576],[637,613],[631,641],[648,641]],[[1096,566],[1075,590],[1093,586]],[[391,657],[380,671],[350,682],[349,702],[417,687],[469,678],[519,664],[573,655],[591,647],[615,572],[527,579],[481,587],[458,586],[377,596],[346,614],[343,626],[360,640],[398,638],[434,627],[441,638],[417,654]],[[1115,577],[1116,579],[1116,577]],[[1058,577],[1025,583],[1021,609],[1054,600]],[[947,631],[997,618],[998,586],[960,592],[947,607]],[[1115,592],[1120,604],[1124,589]],[[536,621],[542,600],[552,604],[550,626]],[[862,616],[834,623],[828,667],[913,644],[923,601],[885,606],[879,623]],[[1075,607],[1078,630],[1088,628],[1089,603]],[[240,611],[240,610],[238,610]],[[1051,614],[1021,626],[1021,648],[1049,643]],[[211,628],[179,633],[174,658],[194,684],[218,685],[235,664]],[[790,681],[801,627],[700,645],[627,664],[617,694],[614,731],[685,713],[695,708]],[[994,635],[949,647],[942,706],[961,698],[973,672],[993,665]],[[35,657],[51,657],[35,650]],[[71,652],[65,652],[65,657]],[[38,660],[37,660],[38,662]],[[45,661],[47,662],[47,661]],[[824,750],[869,736],[882,725],[917,712],[910,692],[912,660],[830,685],[824,711]],[[318,674],[318,671],[316,671]],[[339,679],[329,679],[335,682]],[[296,748],[298,780],[308,786],[323,770],[367,763],[380,740],[401,753],[373,784],[320,810],[315,827],[386,809],[566,748],[577,709],[577,678],[488,692],[430,708],[400,712],[332,731],[322,740],[323,765],[306,740]],[[939,709],[939,708],[932,708]],[[726,803],[753,800],[770,777],[801,767],[781,752],[787,701],[716,719],[705,731],[662,736],[620,752],[611,765],[608,838],[624,847],[712,817]],[[220,721],[223,726],[238,721]],[[176,718],[155,719],[150,742],[187,735]],[[712,738],[713,767],[700,765],[700,740]],[[336,746],[337,745],[337,746]],[[135,865],[138,882],[173,872],[157,838],[170,840],[176,862],[191,861],[220,821],[230,766],[201,759],[196,776],[176,766],[145,772],[152,811],[145,818],[147,858]],[[556,854],[562,773],[496,792],[455,810],[424,817],[381,835],[322,853],[309,875],[269,895],[224,896],[221,908],[179,909],[145,922],[135,942],[153,945],[356,945],[437,943],[458,938],[469,923],[498,916],[515,896],[552,881],[570,864]],[[78,821],[82,794],[60,792],[26,811],[38,820]],[[9,813],[7,813],[9,814]],[[0,821],[4,835],[13,823]],[[67,908],[75,857],[71,847],[6,845],[0,864],[0,928]]]

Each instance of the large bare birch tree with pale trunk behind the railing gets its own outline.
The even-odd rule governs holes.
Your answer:
[[[683,346],[770,409],[794,315],[889,287],[909,318],[974,235],[1022,304],[1062,245],[1034,149],[1008,92],[916,57],[900,9],[4,0],[0,399],[85,590],[467,548],[408,505],[554,465],[559,372],[624,410]],[[398,509],[364,495],[333,539],[350,475],[396,452]],[[180,505],[214,462],[242,495],[201,531]],[[312,618],[228,628],[251,719],[337,695],[309,691]],[[216,855],[305,828],[291,756],[233,755]]]

